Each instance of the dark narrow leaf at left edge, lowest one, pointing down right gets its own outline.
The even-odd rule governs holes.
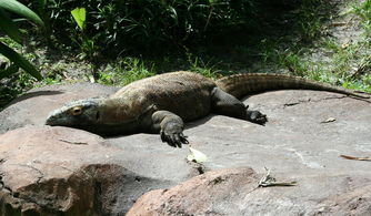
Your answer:
[[[3,54],[6,58],[8,58],[10,61],[12,61],[16,65],[18,65],[19,68],[23,69],[26,72],[31,74],[33,78],[42,80],[42,76],[39,73],[39,71],[36,70],[36,68],[29,61],[27,61],[22,55],[18,54],[16,51],[10,49],[2,42],[0,42],[0,53]]]

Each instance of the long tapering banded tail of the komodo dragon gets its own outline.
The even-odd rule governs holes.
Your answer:
[[[234,74],[221,78],[217,80],[215,83],[221,90],[238,99],[248,94],[272,90],[318,90],[341,93],[361,99],[370,99],[370,94],[368,93],[358,93],[352,90],[310,81],[300,76],[278,73]]]

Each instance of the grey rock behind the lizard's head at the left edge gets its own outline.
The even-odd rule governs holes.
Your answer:
[[[92,83],[49,85],[27,92],[0,112],[0,134],[23,125],[42,125],[48,113],[64,102],[107,96],[118,89]]]

